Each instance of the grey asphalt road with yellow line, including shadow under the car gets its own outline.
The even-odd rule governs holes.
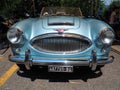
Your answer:
[[[120,54],[110,55],[114,62],[100,70],[76,68],[74,73],[48,73],[45,68],[21,72],[0,56],[0,90],[120,90]]]

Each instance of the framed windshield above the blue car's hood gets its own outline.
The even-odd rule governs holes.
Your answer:
[[[41,11],[42,16],[82,16],[80,8],[73,7],[44,7]]]

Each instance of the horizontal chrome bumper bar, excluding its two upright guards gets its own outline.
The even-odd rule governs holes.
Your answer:
[[[9,59],[12,62],[24,64],[24,57],[11,57]],[[113,62],[114,58],[99,58],[97,59],[97,65],[104,65]],[[31,59],[32,65],[73,65],[73,66],[89,66],[90,59]]]

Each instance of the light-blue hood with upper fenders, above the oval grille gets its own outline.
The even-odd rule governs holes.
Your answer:
[[[64,29],[64,33],[73,33],[95,39],[100,30],[108,25],[95,19],[85,19],[71,16],[52,16],[42,18],[29,18],[21,21],[13,27],[21,28],[27,39],[32,39],[46,33],[58,33],[58,29]]]

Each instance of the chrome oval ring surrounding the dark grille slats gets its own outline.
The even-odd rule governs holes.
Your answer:
[[[42,40],[42,39],[46,39],[46,38],[48,38],[48,39],[49,38],[59,38],[59,37],[60,38],[72,38],[72,39],[76,39],[76,40],[84,40],[89,45],[86,48],[82,49],[82,50],[76,49],[76,50],[73,50],[73,51],[51,51],[51,50],[45,50],[45,49],[42,49],[40,47],[34,46],[34,42],[36,40]],[[88,39],[87,37],[82,36],[82,35],[78,35],[78,34],[71,34],[71,33],[63,33],[63,34],[59,34],[59,33],[47,33],[47,34],[39,35],[39,36],[34,37],[30,41],[30,44],[37,51],[42,51],[42,52],[46,52],[46,53],[54,53],[54,54],[72,54],[72,53],[78,53],[78,52],[82,52],[82,51],[86,50],[87,48],[89,48],[92,45],[91,40]]]

